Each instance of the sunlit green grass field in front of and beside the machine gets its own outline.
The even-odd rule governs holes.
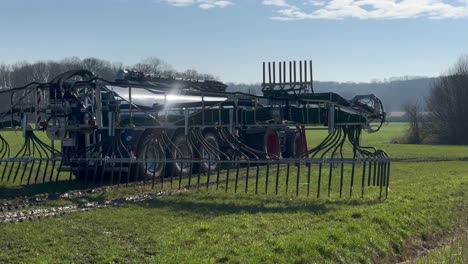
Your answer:
[[[450,240],[468,219],[468,147],[389,144],[405,124],[364,135],[392,164],[389,198],[316,199],[300,195],[200,190],[72,213],[0,224],[0,263],[357,263],[396,262],[411,246]],[[309,133],[317,142],[324,132]],[[410,160],[410,161],[408,161]],[[3,185],[1,193],[39,192]],[[137,187],[80,202],[148,191]],[[2,196],[2,197],[5,197]],[[58,200],[50,204],[70,203]],[[464,223],[464,224],[463,224]],[[459,246],[462,245],[462,246]],[[466,237],[418,261],[450,259]],[[449,252],[449,253],[447,253]],[[465,250],[455,262],[463,263]]]

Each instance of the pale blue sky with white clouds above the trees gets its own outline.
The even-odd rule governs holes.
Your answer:
[[[468,0],[0,0],[0,63],[157,56],[177,70],[260,82],[261,62],[314,76],[436,76],[468,53]]]

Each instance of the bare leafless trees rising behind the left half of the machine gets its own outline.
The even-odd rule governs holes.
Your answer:
[[[120,62],[110,62],[98,58],[69,57],[60,61],[27,61],[14,64],[0,63],[0,89],[20,87],[30,82],[47,82],[55,76],[76,69],[86,69],[106,80],[114,80],[117,72],[123,69],[141,71],[147,74],[166,77],[177,77],[196,80],[216,79],[211,74],[202,74],[189,69],[176,71],[172,66],[156,57],[149,57],[134,65],[124,65]]]

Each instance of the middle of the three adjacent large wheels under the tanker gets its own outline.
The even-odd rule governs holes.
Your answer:
[[[173,146],[171,153],[169,153],[170,159],[191,159],[193,157],[193,149],[189,144],[187,138],[183,133],[177,134],[173,140]],[[168,164],[169,172],[172,176],[187,175],[192,172],[192,163],[183,163],[183,162],[171,162]]]

